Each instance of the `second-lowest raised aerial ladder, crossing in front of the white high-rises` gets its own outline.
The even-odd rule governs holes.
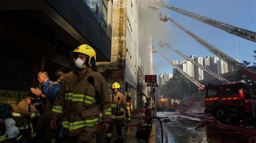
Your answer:
[[[183,58],[185,58],[186,60],[192,62],[194,65],[196,65],[197,67],[199,67],[200,69],[203,69],[204,71],[206,71],[206,73],[212,75],[213,77],[217,78],[218,80],[220,80],[221,82],[224,83],[230,83],[230,81],[226,80],[224,77],[220,76],[219,74],[215,73],[214,71],[212,71],[211,69],[208,69],[206,67],[204,67],[203,65],[201,65],[200,63],[194,61],[193,59],[190,59],[187,55],[183,54],[182,52],[178,51],[177,49],[173,48],[171,45],[163,42],[163,41],[159,41],[159,46],[160,47],[164,47],[167,46],[170,49],[172,49],[172,51],[176,52],[177,54],[183,56]]]

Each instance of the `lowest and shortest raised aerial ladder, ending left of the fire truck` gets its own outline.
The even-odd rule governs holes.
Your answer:
[[[186,74],[179,66],[177,66],[176,64],[174,64],[169,58],[167,58],[163,53],[157,51],[156,48],[152,48],[152,52],[153,53],[159,53],[161,56],[163,56],[163,58],[168,61],[174,68],[176,68],[182,75],[184,75],[188,80],[190,80],[192,83],[196,84],[201,90],[205,89],[205,85],[199,83],[197,80],[195,80],[193,77],[189,76],[188,74]]]

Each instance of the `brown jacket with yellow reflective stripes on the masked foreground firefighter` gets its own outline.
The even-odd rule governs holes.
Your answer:
[[[63,78],[50,119],[60,119],[64,134],[70,137],[91,132],[89,127],[98,125],[99,110],[103,112],[103,122],[111,121],[109,99],[107,83],[98,72],[90,67],[83,75],[76,70],[71,71]]]

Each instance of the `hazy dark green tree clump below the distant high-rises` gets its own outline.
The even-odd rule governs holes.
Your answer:
[[[197,92],[198,87],[190,82],[185,76],[177,72],[169,82],[162,85],[160,95],[168,98],[183,99],[185,94],[192,95]]]

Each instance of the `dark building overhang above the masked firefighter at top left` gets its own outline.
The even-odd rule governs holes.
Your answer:
[[[96,51],[97,61],[111,59],[111,39],[83,0],[0,0],[0,10],[26,12],[49,27],[71,50],[89,44]]]

